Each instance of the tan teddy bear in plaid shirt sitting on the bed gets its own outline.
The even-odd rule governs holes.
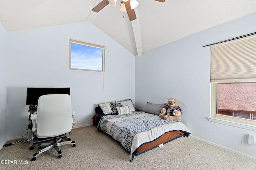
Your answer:
[[[159,118],[170,121],[181,121],[182,110],[178,106],[178,100],[175,98],[168,99],[167,106],[162,108]]]

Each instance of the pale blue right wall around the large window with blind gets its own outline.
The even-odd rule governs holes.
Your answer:
[[[248,145],[255,131],[208,121],[210,117],[210,47],[218,41],[256,32],[256,13],[148,51],[135,60],[136,108],[174,97],[192,136],[256,160]],[[188,28],[189,29],[189,28]]]

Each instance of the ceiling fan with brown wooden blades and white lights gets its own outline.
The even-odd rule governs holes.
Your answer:
[[[107,6],[109,3],[112,4],[113,6],[116,6],[116,1],[117,0],[103,0],[100,2],[98,5],[96,5],[92,11],[94,12],[100,12],[105,6]],[[158,2],[164,2],[165,0],[155,0]],[[123,0],[120,4],[120,7],[125,6],[125,10],[123,12],[127,12],[129,20],[135,20],[136,19],[136,14],[134,12],[134,8],[138,5],[138,2],[136,0]]]

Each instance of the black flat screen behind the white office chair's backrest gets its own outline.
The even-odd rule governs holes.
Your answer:
[[[45,94],[68,94],[70,88],[27,88],[27,105],[37,105],[38,98]]]

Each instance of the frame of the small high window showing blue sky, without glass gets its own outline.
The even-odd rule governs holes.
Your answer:
[[[72,63],[72,61],[71,61],[71,43],[102,49],[102,69],[101,70],[93,70],[93,69],[84,69],[84,68],[72,68],[71,67],[71,63]],[[88,42],[84,42],[84,41],[80,41],[80,40],[75,40],[75,39],[69,39],[69,69],[70,70],[86,70],[86,71],[105,72],[105,46],[88,43]]]

